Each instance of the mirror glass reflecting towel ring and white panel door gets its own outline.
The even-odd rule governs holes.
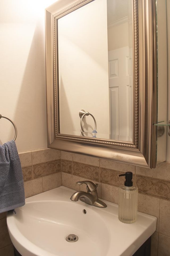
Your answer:
[[[60,134],[133,141],[132,34],[131,0],[94,0],[58,19]]]

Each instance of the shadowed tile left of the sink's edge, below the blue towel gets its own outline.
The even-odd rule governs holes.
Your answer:
[[[6,218],[0,220],[0,249],[10,245],[11,239],[8,234]]]

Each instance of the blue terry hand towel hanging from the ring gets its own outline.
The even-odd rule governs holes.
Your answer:
[[[0,146],[0,213],[25,204],[24,181],[15,141]]]

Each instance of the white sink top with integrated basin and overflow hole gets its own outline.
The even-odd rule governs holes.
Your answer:
[[[7,214],[15,248],[23,256],[131,256],[156,230],[156,217],[138,213],[137,221],[118,220],[118,206],[98,208],[70,201],[75,191],[58,187],[27,198]],[[85,211],[86,210],[86,213]],[[78,241],[67,242],[69,234]]]

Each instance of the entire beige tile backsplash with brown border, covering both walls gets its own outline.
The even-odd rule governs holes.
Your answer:
[[[125,171],[133,172],[133,182],[139,189],[138,211],[158,218],[152,235],[151,256],[170,255],[170,163],[159,164],[155,169],[126,165],[115,161],[88,157],[54,149],[41,149],[19,154],[25,197],[59,187],[86,191],[77,181],[97,182],[100,198],[118,203],[118,187]],[[0,256],[13,256],[6,226],[6,213],[0,214]]]

